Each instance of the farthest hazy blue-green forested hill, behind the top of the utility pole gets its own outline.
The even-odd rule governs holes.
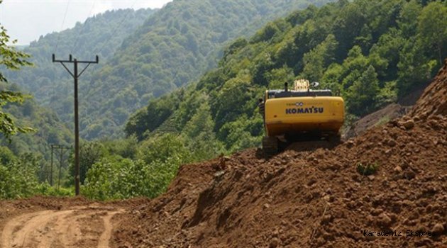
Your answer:
[[[72,102],[69,100],[72,79],[60,64],[52,62],[51,55],[55,53],[62,60],[67,60],[70,54],[78,60],[94,60],[94,55],[99,55],[101,64],[104,64],[114,55],[124,38],[153,12],[150,9],[106,11],[88,18],[84,23],[77,23],[74,28],[42,35],[22,49],[31,55],[30,62],[34,66],[9,72],[7,77],[31,92],[39,103],[49,105],[62,116],[71,116]],[[89,68],[82,79],[88,78],[101,64]],[[70,108],[67,106],[69,104]]]

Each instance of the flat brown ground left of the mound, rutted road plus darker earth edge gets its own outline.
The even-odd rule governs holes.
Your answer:
[[[109,247],[116,215],[142,201],[51,197],[0,201],[0,247]]]

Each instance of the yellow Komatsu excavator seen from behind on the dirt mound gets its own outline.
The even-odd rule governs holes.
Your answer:
[[[266,157],[280,152],[292,142],[340,142],[344,121],[344,101],[331,90],[311,89],[306,79],[294,81],[294,89],[267,90],[259,108],[264,118],[263,152]]]

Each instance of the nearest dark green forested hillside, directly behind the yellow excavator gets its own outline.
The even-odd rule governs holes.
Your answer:
[[[297,78],[340,91],[347,120],[358,118],[433,77],[447,56],[446,23],[447,6],[436,1],[338,1],[296,11],[235,40],[217,69],[151,101],[126,133],[151,140],[170,123],[195,149],[253,147],[263,136],[256,99]]]

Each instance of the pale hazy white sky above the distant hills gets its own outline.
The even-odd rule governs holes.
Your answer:
[[[27,45],[40,35],[72,28],[77,21],[84,22],[95,13],[111,9],[155,9],[170,1],[172,0],[4,0],[0,4],[0,23],[8,30],[11,38],[18,40],[18,45]]]

